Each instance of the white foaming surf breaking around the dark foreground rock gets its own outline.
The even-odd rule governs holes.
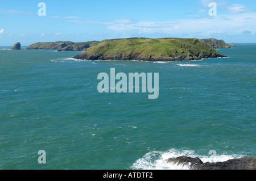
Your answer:
[[[168,158],[176,158],[187,156],[192,158],[200,158],[202,162],[224,162],[233,158],[241,158],[243,155],[197,155],[193,150],[176,150],[168,151],[150,151],[142,158],[139,158],[131,169],[134,170],[190,170],[190,164],[177,165],[177,163],[167,163]]]

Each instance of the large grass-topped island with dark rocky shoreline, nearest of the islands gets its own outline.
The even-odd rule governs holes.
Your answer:
[[[198,39],[113,39],[103,40],[75,56],[80,60],[179,61],[224,57]]]

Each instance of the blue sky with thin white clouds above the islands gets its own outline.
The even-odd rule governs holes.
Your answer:
[[[46,5],[45,11],[39,3]],[[209,3],[216,4],[212,11]],[[45,16],[40,16],[45,12]],[[216,12],[216,16],[210,12]],[[255,0],[1,0],[0,46],[127,37],[256,43]]]

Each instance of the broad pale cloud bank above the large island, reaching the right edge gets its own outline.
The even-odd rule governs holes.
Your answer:
[[[110,30],[132,35],[163,35],[168,37],[212,37],[245,35],[256,30],[256,13],[229,14],[214,18],[180,19],[170,22],[132,22],[109,24]],[[250,27],[245,29],[245,27]],[[241,33],[243,32],[243,33]],[[247,35],[249,35],[247,33]]]

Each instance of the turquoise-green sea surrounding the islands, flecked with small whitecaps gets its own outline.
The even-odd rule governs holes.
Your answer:
[[[256,44],[201,61],[80,61],[0,47],[0,169],[186,169],[256,157]],[[159,73],[159,97],[97,91],[97,75]],[[39,150],[46,164],[39,164]],[[209,154],[215,150],[216,155]]]

